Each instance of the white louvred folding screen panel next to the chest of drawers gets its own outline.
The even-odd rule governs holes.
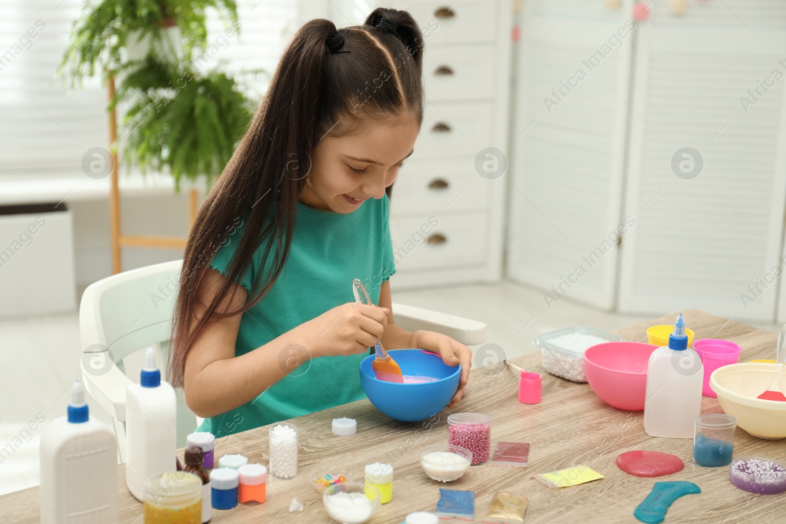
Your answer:
[[[523,2],[507,272],[549,307],[564,296],[614,306],[617,235],[631,229],[620,198],[636,31],[629,2]]]

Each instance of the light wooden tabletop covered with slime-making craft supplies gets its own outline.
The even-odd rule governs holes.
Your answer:
[[[722,338],[742,346],[740,361],[772,358],[777,336],[708,313],[689,310],[685,324],[697,339]],[[652,324],[673,324],[676,315],[653,320]],[[615,332],[626,340],[646,342],[642,322]],[[445,409],[432,423],[401,423],[376,411],[368,400],[300,416],[292,421],[300,430],[299,475],[290,481],[268,476],[267,500],[259,506],[238,506],[230,511],[213,510],[211,522],[299,522],[329,524],[321,495],[309,484],[312,471],[319,467],[341,467],[362,478],[365,464],[388,462],[394,467],[393,500],[380,506],[372,524],[402,522],[410,511],[434,511],[439,488],[468,489],[476,492],[476,522],[489,507],[494,491],[516,489],[529,499],[525,520],[539,522],[638,522],[634,508],[644,500],[656,480],[689,480],[702,489],[700,495],[677,500],[669,509],[667,524],[677,522],[786,522],[783,504],[786,494],[757,496],[729,483],[728,467],[698,467],[692,464],[692,440],[651,438],[645,434],[643,412],[626,412],[605,404],[587,384],[572,383],[543,372],[539,354],[512,360],[543,377],[542,401],[524,405],[517,400],[516,373],[505,369],[497,376],[473,370],[471,390],[454,409]],[[417,459],[426,445],[447,442],[447,416],[453,412],[482,412],[493,417],[492,445],[497,441],[531,443],[527,468],[486,464],[472,467],[456,482],[435,482],[428,478]],[[702,412],[722,412],[715,398],[703,397]],[[330,431],[334,418],[358,420],[358,433],[336,437]],[[226,453],[242,453],[250,462],[267,464],[267,429],[259,427],[216,440],[216,460]],[[739,427],[735,455],[762,454],[783,460],[783,441],[751,437]],[[637,478],[615,465],[619,453],[634,449],[655,449],[673,453],[685,461],[685,469],[666,478]],[[182,450],[180,450],[182,456]],[[564,467],[586,464],[605,478],[582,486],[551,489],[532,475]],[[125,486],[125,468],[119,466],[119,522],[141,524],[141,503]],[[0,522],[39,522],[39,488],[24,489],[0,497]],[[305,504],[302,513],[289,513],[292,497]],[[454,521],[455,522],[455,521]]]

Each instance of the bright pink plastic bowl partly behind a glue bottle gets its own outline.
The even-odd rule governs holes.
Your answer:
[[[605,342],[584,352],[589,387],[609,405],[628,411],[644,409],[649,356],[658,346],[639,342]]]

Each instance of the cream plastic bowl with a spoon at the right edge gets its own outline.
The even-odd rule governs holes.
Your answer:
[[[786,402],[758,397],[773,381],[780,365],[741,362],[716,369],[710,388],[727,415],[736,416],[737,426],[758,438],[786,438]]]

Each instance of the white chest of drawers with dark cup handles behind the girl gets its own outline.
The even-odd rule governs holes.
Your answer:
[[[391,198],[397,268],[391,286],[498,280],[509,173],[480,176],[476,156],[489,147],[506,154],[511,2],[396,0],[391,6],[412,13],[425,42],[423,126]]]

